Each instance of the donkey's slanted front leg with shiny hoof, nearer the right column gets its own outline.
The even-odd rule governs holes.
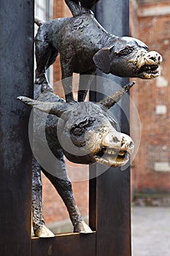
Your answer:
[[[72,191],[72,183],[69,178],[56,178],[50,173],[47,173],[45,170],[42,171],[43,173],[45,173],[45,176],[50,179],[55,189],[57,189],[58,194],[63,199],[63,202],[65,203],[66,208],[69,211],[69,217],[72,221],[72,225],[74,226],[74,233],[93,233],[90,227],[82,219],[80,211],[77,208]]]

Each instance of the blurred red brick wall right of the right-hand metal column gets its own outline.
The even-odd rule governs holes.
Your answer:
[[[135,14],[134,14],[135,12]],[[141,141],[133,162],[134,195],[170,192],[170,1],[131,1],[131,13],[137,23],[131,26],[133,37],[144,41],[150,50],[163,56],[161,77],[136,80],[131,97],[141,120]],[[133,17],[133,16],[131,16]],[[131,23],[133,24],[133,21]],[[133,109],[131,109],[133,112]],[[137,138],[136,120],[131,115],[131,135]],[[147,194],[147,195],[146,195]]]

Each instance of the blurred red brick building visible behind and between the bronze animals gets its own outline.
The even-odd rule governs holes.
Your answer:
[[[139,113],[140,124],[131,106],[131,137],[139,143],[131,167],[132,200],[139,206],[170,206],[170,1],[130,0],[131,37],[145,42],[150,50],[163,56],[161,77],[155,80],[136,80],[131,99]],[[36,16],[44,20],[71,15],[64,0],[36,0]],[[49,73],[55,93],[63,96],[59,56]],[[77,205],[84,217],[88,217],[88,181],[81,173],[75,179],[77,165],[67,162],[69,174],[73,174],[73,188]],[[77,181],[75,181],[77,180]],[[43,176],[43,207],[49,227],[58,222],[58,232],[69,222],[65,206],[58,193]],[[61,230],[60,230],[61,227]],[[68,227],[68,230],[72,227]],[[65,229],[67,230],[67,229]]]

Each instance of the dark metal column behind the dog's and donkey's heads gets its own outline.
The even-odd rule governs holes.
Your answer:
[[[104,29],[117,36],[129,34],[128,0],[99,1],[96,17]],[[114,75],[98,75],[115,81],[120,86],[128,83],[128,79]],[[112,94],[113,89],[105,91]],[[98,100],[100,95],[96,95]],[[128,99],[123,99],[121,107],[129,113]],[[125,117],[119,106],[115,106],[114,114],[120,123],[121,131],[129,134],[128,116]],[[102,166],[97,167],[97,173]],[[131,200],[130,200],[130,169],[120,171],[109,168],[96,178],[96,255],[97,256],[130,256],[131,255]]]

